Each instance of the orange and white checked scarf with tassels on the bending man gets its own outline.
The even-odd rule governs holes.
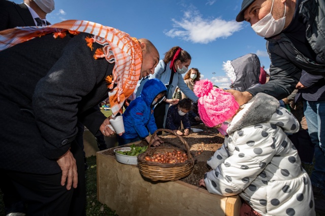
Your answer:
[[[93,34],[93,38],[86,39],[87,45],[91,49],[92,43],[104,46],[102,52],[95,52],[94,58],[105,57],[108,62],[115,62],[113,79],[110,76],[106,78],[108,88],[111,89],[108,93],[111,110],[115,116],[121,110],[124,100],[134,92],[140,78],[142,51],[136,38],[98,23],[66,20],[46,27],[16,27],[0,31],[0,51],[49,33],[53,33],[54,38],[63,38],[67,31],[72,34],[80,31]]]

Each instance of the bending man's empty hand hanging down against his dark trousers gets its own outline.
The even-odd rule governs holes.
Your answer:
[[[72,183],[73,187],[77,188],[78,172],[76,159],[73,157],[70,150],[68,150],[66,154],[62,155],[59,159],[57,159],[56,162],[62,170],[61,186],[64,186],[64,184],[66,184],[66,180],[68,177],[67,190],[71,189]]]

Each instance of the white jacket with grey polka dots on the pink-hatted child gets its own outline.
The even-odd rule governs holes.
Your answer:
[[[258,93],[231,121],[224,143],[208,160],[210,193],[239,195],[262,215],[315,215],[309,176],[285,132],[299,122],[278,100]]]

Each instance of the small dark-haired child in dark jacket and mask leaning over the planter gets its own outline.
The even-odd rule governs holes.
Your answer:
[[[176,105],[172,105],[168,109],[166,118],[166,129],[174,130],[179,135],[187,136],[191,129],[188,120],[188,111],[192,108],[192,101],[190,99],[182,99]],[[184,127],[184,134],[180,131],[181,122]]]

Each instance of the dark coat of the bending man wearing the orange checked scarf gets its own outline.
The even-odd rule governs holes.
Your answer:
[[[77,119],[98,132],[106,117],[93,107],[108,97],[114,64],[95,60],[101,45],[91,51],[86,36],[47,34],[0,52],[0,168],[59,173]]]

